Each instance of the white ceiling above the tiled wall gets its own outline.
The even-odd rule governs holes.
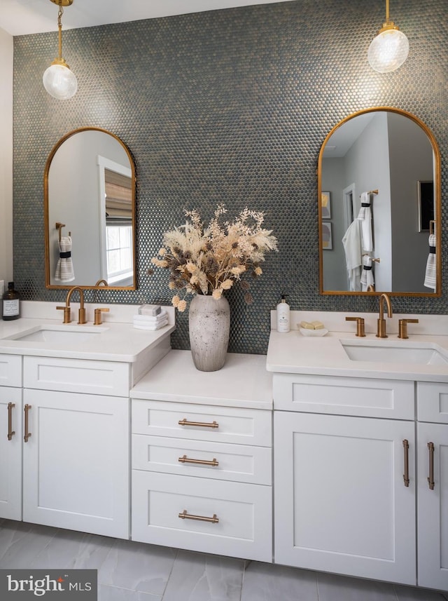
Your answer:
[[[285,0],[73,0],[62,25],[92,27],[280,1]],[[13,36],[55,31],[57,6],[50,0],[0,0],[0,28]]]

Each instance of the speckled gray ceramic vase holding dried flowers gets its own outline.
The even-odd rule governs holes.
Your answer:
[[[224,297],[195,295],[188,313],[193,363],[201,372],[216,372],[225,363],[229,345],[230,307]]]

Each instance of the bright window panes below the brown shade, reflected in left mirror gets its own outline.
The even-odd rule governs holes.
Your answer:
[[[109,284],[132,276],[132,224],[107,223],[106,259]]]

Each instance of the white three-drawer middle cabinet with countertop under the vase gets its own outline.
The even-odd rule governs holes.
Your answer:
[[[272,562],[264,363],[229,356],[220,372],[199,372],[189,351],[172,351],[133,389],[133,540]],[[252,408],[257,400],[268,408]]]

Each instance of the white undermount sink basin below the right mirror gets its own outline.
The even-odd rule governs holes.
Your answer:
[[[404,342],[341,341],[342,348],[352,361],[375,363],[415,363],[420,365],[446,365],[448,358],[431,346],[416,346]]]

